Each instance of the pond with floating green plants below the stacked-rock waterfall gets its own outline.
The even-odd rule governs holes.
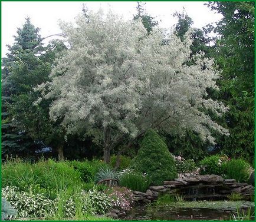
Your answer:
[[[222,202],[222,203],[221,203]],[[209,208],[202,207],[202,203],[195,204],[191,202],[192,207],[185,206],[156,206],[145,205],[134,207],[127,216],[121,218],[122,220],[229,220],[232,214],[236,215],[237,209],[235,204],[229,205],[228,201],[207,201],[211,206]],[[205,202],[206,203],[206,202]],[[228,203],[228,204],[227,204]],[[190,204],[189,202],[187,204]],[[212,205],[216,207],[212,207]],[[219,205],[220,204],[220,205]],[[227,207],[222,207],[226,204]],[[191,205],[191,204],[190,204]],[[208,204],[205,204],[207,206]],[[199,207],[194,207],[199,206]],[[240,205],[241,206],[241,205]],[[222,208],[221,208],[222,207]],[[254,212],[254,203],[248,201],[242,204],[240,210],[245,212],[251,207],[251,212]],[[254,220],[254,217],[251,218]]]

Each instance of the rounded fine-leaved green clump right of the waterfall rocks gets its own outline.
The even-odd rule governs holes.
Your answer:
[[[242,159],[232,159],[225,163],[226,178],[235,179],[238,182],[248,182],[250,164]]]

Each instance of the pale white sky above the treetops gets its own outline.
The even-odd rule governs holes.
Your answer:
[[[40,28],[41,37],[47,37],[61,32],[58,21],[74,22],[74,18],[81,12],[83,4],[94,12],[102,8],[104,11],[116,12],[124,19],[132,19],[136,14],[136,2],[1,2],[2,3],[2,57],[8,48],[6,44],[14,43],[17,28],[22,27],[25,18]],[[177,19],[172,14],[176,11],[186,13],[193,19],[193,27],[203,26],[221,19],[221,15],[212,12],[206,2],[146,2],[147,14],[159,21],[159,26],[169,28],[176,24]],[[50,39],[50,38],[49,38]],[[45,40],[48,41],[49,39]]]

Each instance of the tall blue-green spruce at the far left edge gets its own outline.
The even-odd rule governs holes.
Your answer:
[[[20,154],[29,150],[33,141],[24,131],[15,125],[11,115],[11,107],[14,104],[14,97],[20,92],[27,92],[25,84],[28,79],[22,79],[18,74],[22,58],[28,56],[29,52],[41,46],[41,37],[27,18],[25,24],[15,37],[14,45],[8,45],[9,53],[2,59],[2,154]],[[24,55],[25,54],[25,55]]]

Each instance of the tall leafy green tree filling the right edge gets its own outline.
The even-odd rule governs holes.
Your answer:
[[[254,162],[254,2],[209,2],[223,15],[217,22],[215,59],[222,69],[218,98],[230,109],[222,122],[229,137],[219,138],[221,150]]]

